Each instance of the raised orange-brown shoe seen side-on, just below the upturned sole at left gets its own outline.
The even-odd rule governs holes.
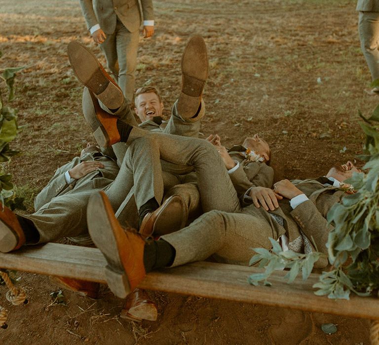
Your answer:
[[[83,90],[82,105],[84,118],[101,147],[108,147],[120,141],[117,117],[103,110],[95,95],[86,87]]]

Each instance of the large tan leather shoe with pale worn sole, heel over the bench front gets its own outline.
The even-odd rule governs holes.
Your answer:
[[[87,207],[87,225],[92,241],[105,256],[105,276],[111,291],[125,298],[145,278],[145,241],[132,229],[123,229],[112,206],[101,192],[92,194]]]

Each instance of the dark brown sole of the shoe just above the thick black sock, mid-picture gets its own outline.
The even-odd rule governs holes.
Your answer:
[[[153,227],[154,235],[167,235],[183,229],[187,223],[188,212],[179,195],[168,198],[159,212]]]

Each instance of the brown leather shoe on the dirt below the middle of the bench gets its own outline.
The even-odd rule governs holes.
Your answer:
[[[156,321],[158,311],[145,290],[134,289],[126,298],[120,316],[132,321]]]

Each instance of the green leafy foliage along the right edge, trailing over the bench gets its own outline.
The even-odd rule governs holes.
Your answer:
[[[328,295],[333,299],[349,299],[351,292],[368,296],[379,289],[379,105],[371,117],[365,118],[360,126],[366,134],[364,154],[358,156],[366,162],[363,167],[368,173],[353,173],[346,183],[354,186],[356,193],[342,198],[328,212],[327,219],[334,225],[328,235],[328,258],[332,270],[323,272],[313,285],[316,295]],[[283,251],[278,242],[270,239],[272,249],[254,248],[257,253],[250,265],[259,262],[264,272],[253,274],[249,282],[270,285],[268,277],[275,270],[290,269],[284,277],[288,283],[302,272],[307,279],[314,263],[321,255]]]

